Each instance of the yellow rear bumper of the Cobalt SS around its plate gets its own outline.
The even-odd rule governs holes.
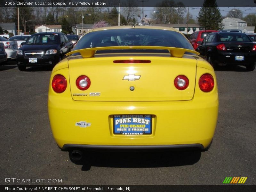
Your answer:
[[[48,110],[53,137],[60,148],[206,148],[215,132],[218,95],[207,100],[147,102],[49,97]],[[152,115],[152,133],[114,134],[113,115],[117,114]],[[81,121],[90,126],[76,126]]]

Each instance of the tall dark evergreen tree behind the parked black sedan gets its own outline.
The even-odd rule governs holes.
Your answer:
[[[204,0],[203,6],[198,13],[198,23],[207,30],[222,29],[220,9],[216,0]]]

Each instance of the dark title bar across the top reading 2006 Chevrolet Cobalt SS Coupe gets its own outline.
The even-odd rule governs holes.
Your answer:
[[[201,7],[204,0],[1,0],[0,7]],[[164,3],[165,2],[165,3]],[[254,0],[216,0],[218,7],[255,7]]]

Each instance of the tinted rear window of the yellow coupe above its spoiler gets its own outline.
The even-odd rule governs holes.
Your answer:
[[[165,46],[194,50],[181,33],[163,29],[122,28],[85,34],[74,50],[108,46]]]

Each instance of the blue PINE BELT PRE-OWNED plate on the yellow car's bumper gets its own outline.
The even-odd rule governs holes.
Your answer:
[[[145,135],[152,133],[151,115],[114,115],[114,134]]]

